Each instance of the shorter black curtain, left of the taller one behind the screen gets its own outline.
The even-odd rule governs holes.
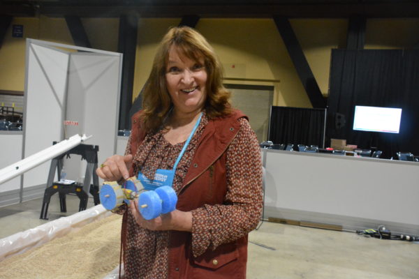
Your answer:
[[[323,147],[325,109],[272,106],[268,139],[274,144]]]

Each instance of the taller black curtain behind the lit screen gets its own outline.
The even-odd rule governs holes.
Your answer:
[[[353,130],[355,105],[402,108],[399,134]],[[419,50],[332,50],[328,114],[328,139],[376,147],[384,158],[398,151],[418,154]],[[341,128],[339,114],[346,118]]]

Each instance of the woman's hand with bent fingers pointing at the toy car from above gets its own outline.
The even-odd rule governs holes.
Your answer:
[[[105,181],[119,181],[122,178],[128,179],[128,169],[132,163],[133,156],[131,154],[126,156],[110,156],[103,162],[101,167],[96,169],[96,174]]]

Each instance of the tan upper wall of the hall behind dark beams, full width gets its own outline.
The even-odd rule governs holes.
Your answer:
[[[117,51],[119,20],[117,18],[84,18],[84,29],[92,47]],[[156,45],[169,27],[180,18],[140,19],[135,57],[135,98],[151,68]],[[290,20],[297,39],[323,95],[328,95],[330,52],[346,45],[345,19]],[[13,19],[24,25],[24,38],[36,38],[73,45],[63,18]],[[274,86],[274,105],[311,107],[295,67],[288,56],[277,27],[270,19],[201,19],[196,29],[214,46],[225,67],[226,77],[280,80],[280,82],[232,82]],[[367,20],[365,48],[411,47],[418,40],[418,19]],[[24,38],[11,38],[11,26],[0,49],[0,90],[24,90]]]

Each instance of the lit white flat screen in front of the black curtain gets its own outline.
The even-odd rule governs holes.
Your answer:
[[[353,130],[399,133],[402,109],[395,107],[367,107],[355,105]]]

